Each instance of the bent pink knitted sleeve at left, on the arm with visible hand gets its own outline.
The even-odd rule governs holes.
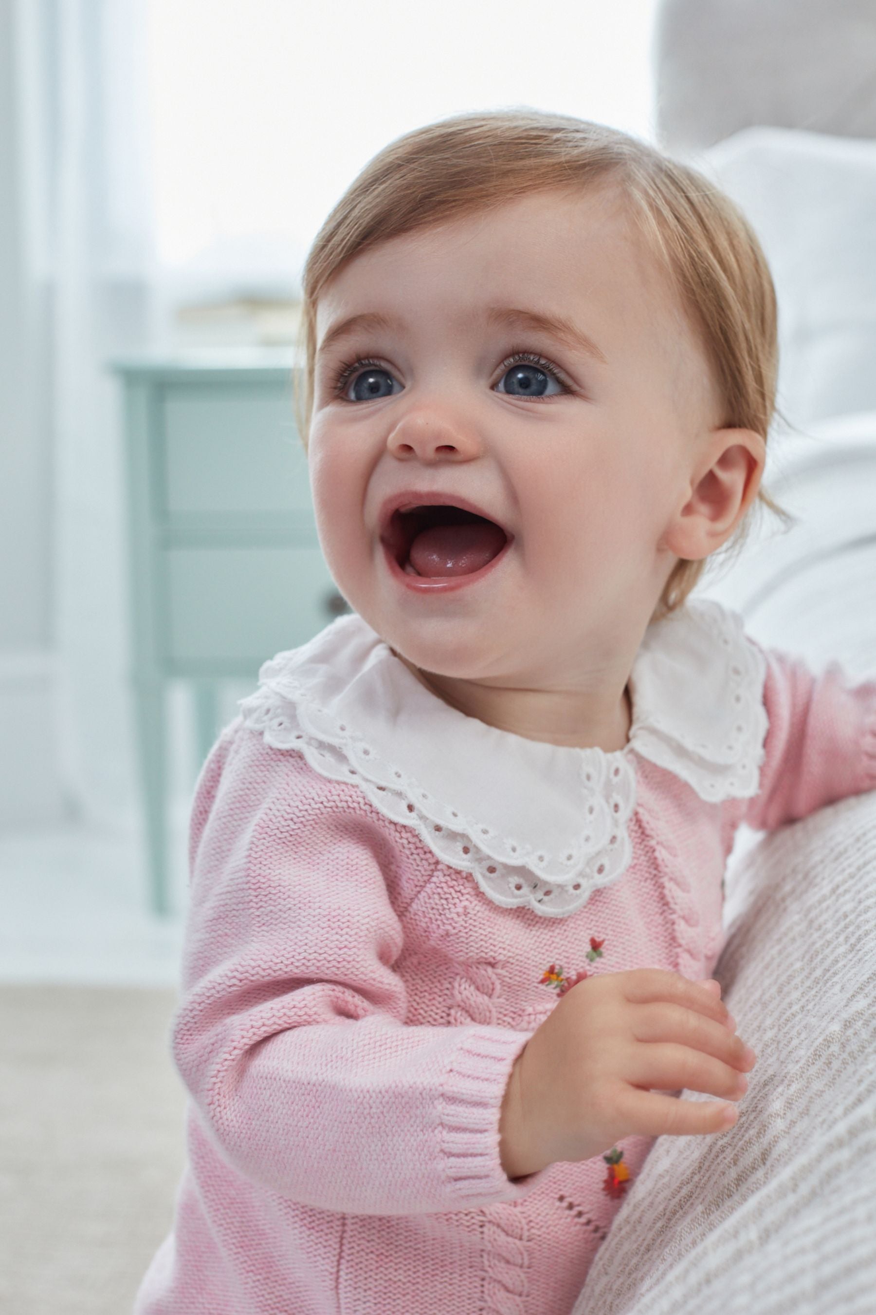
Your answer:
[[[529,1034],[406,1022],[387,889],[405,861],[393,823],[301,755],[236,723],[214,747],[192,813],[173,1056],[223,1159],[306,1206],[470,1210],[548,1172],[510,1181],[499,1162]]]

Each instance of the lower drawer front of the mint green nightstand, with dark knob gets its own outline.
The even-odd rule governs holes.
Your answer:
[[[314,548],[171,548],[165,660],[176,675],[239,675],[297,648],[344,610]]]

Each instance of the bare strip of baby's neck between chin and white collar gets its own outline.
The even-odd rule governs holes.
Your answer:
[[[632,705],[625,684],[612,690],[516,689],[437,676],[420,671],[406,658],[402,661],[450,707],[524,739],[602,748],[607,753],[624,748],[629,740]]]

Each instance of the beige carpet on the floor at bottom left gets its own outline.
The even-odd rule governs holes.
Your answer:
[[[130,1315],[169,1228],[172,990],[0,986],[0,1311]]]

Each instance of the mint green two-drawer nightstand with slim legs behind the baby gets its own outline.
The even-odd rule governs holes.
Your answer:
[[[198,750],[217,682],[259,667],[348,610],[317,539],[292,360],[123,360],[137,707],[151,905],[168,907],[168,679],[193,681]]]

